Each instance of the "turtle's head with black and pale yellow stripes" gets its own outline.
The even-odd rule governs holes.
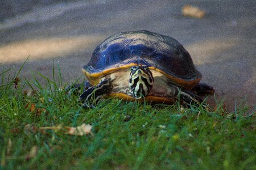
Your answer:
[[[154,78],[148,66],[131,67],[129,87],[131,94],[140,99],[147,96],[154,84]]]

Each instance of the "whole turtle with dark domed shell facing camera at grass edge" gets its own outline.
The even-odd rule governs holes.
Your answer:
[[[108,37],[82,71],[87,80],[79,100],[86,108],[108,97],[200,105],[203,100],[197,94],[214,92],[213,87],[199,83],[202,75],[180,42],[145,30]]]

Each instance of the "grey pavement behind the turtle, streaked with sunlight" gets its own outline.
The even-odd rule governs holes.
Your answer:
[[[206,11],[203,19],[185,18],[184,5]],[[20,77],[34,71],[52,77],[60,65],[63,82],[79,78],[94,48],[117,32],[146,29],[174,37],[191,54],[203,82],[233,110],[247,99],[256,103],[256,1],[76,1],[38,6],[0,23],[0,69]],[[10,72],[13,74],[13,72]],[[35,75],[36,76],[36,75]],[[37,76],[39,77],[39,76]],[[41,79],[39,77],[39,79]],[[42,80],[43,82],[43,80]]]

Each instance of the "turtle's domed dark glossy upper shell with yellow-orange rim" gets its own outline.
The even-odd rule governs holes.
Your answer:
[[[180,86],[194,86],[201,73],[187,50],[175,39],[149,31],[121,32],[97,46],[82,70],[91,84],[106,74],[136,65],[146,65]]]

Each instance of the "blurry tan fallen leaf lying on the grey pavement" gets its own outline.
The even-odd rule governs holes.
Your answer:
[[[182,13],[184,16],[190,16],[193,18],[203,18],[205,15],[204,10],[201,10],[200,8],[191,5],[183,6]]]

